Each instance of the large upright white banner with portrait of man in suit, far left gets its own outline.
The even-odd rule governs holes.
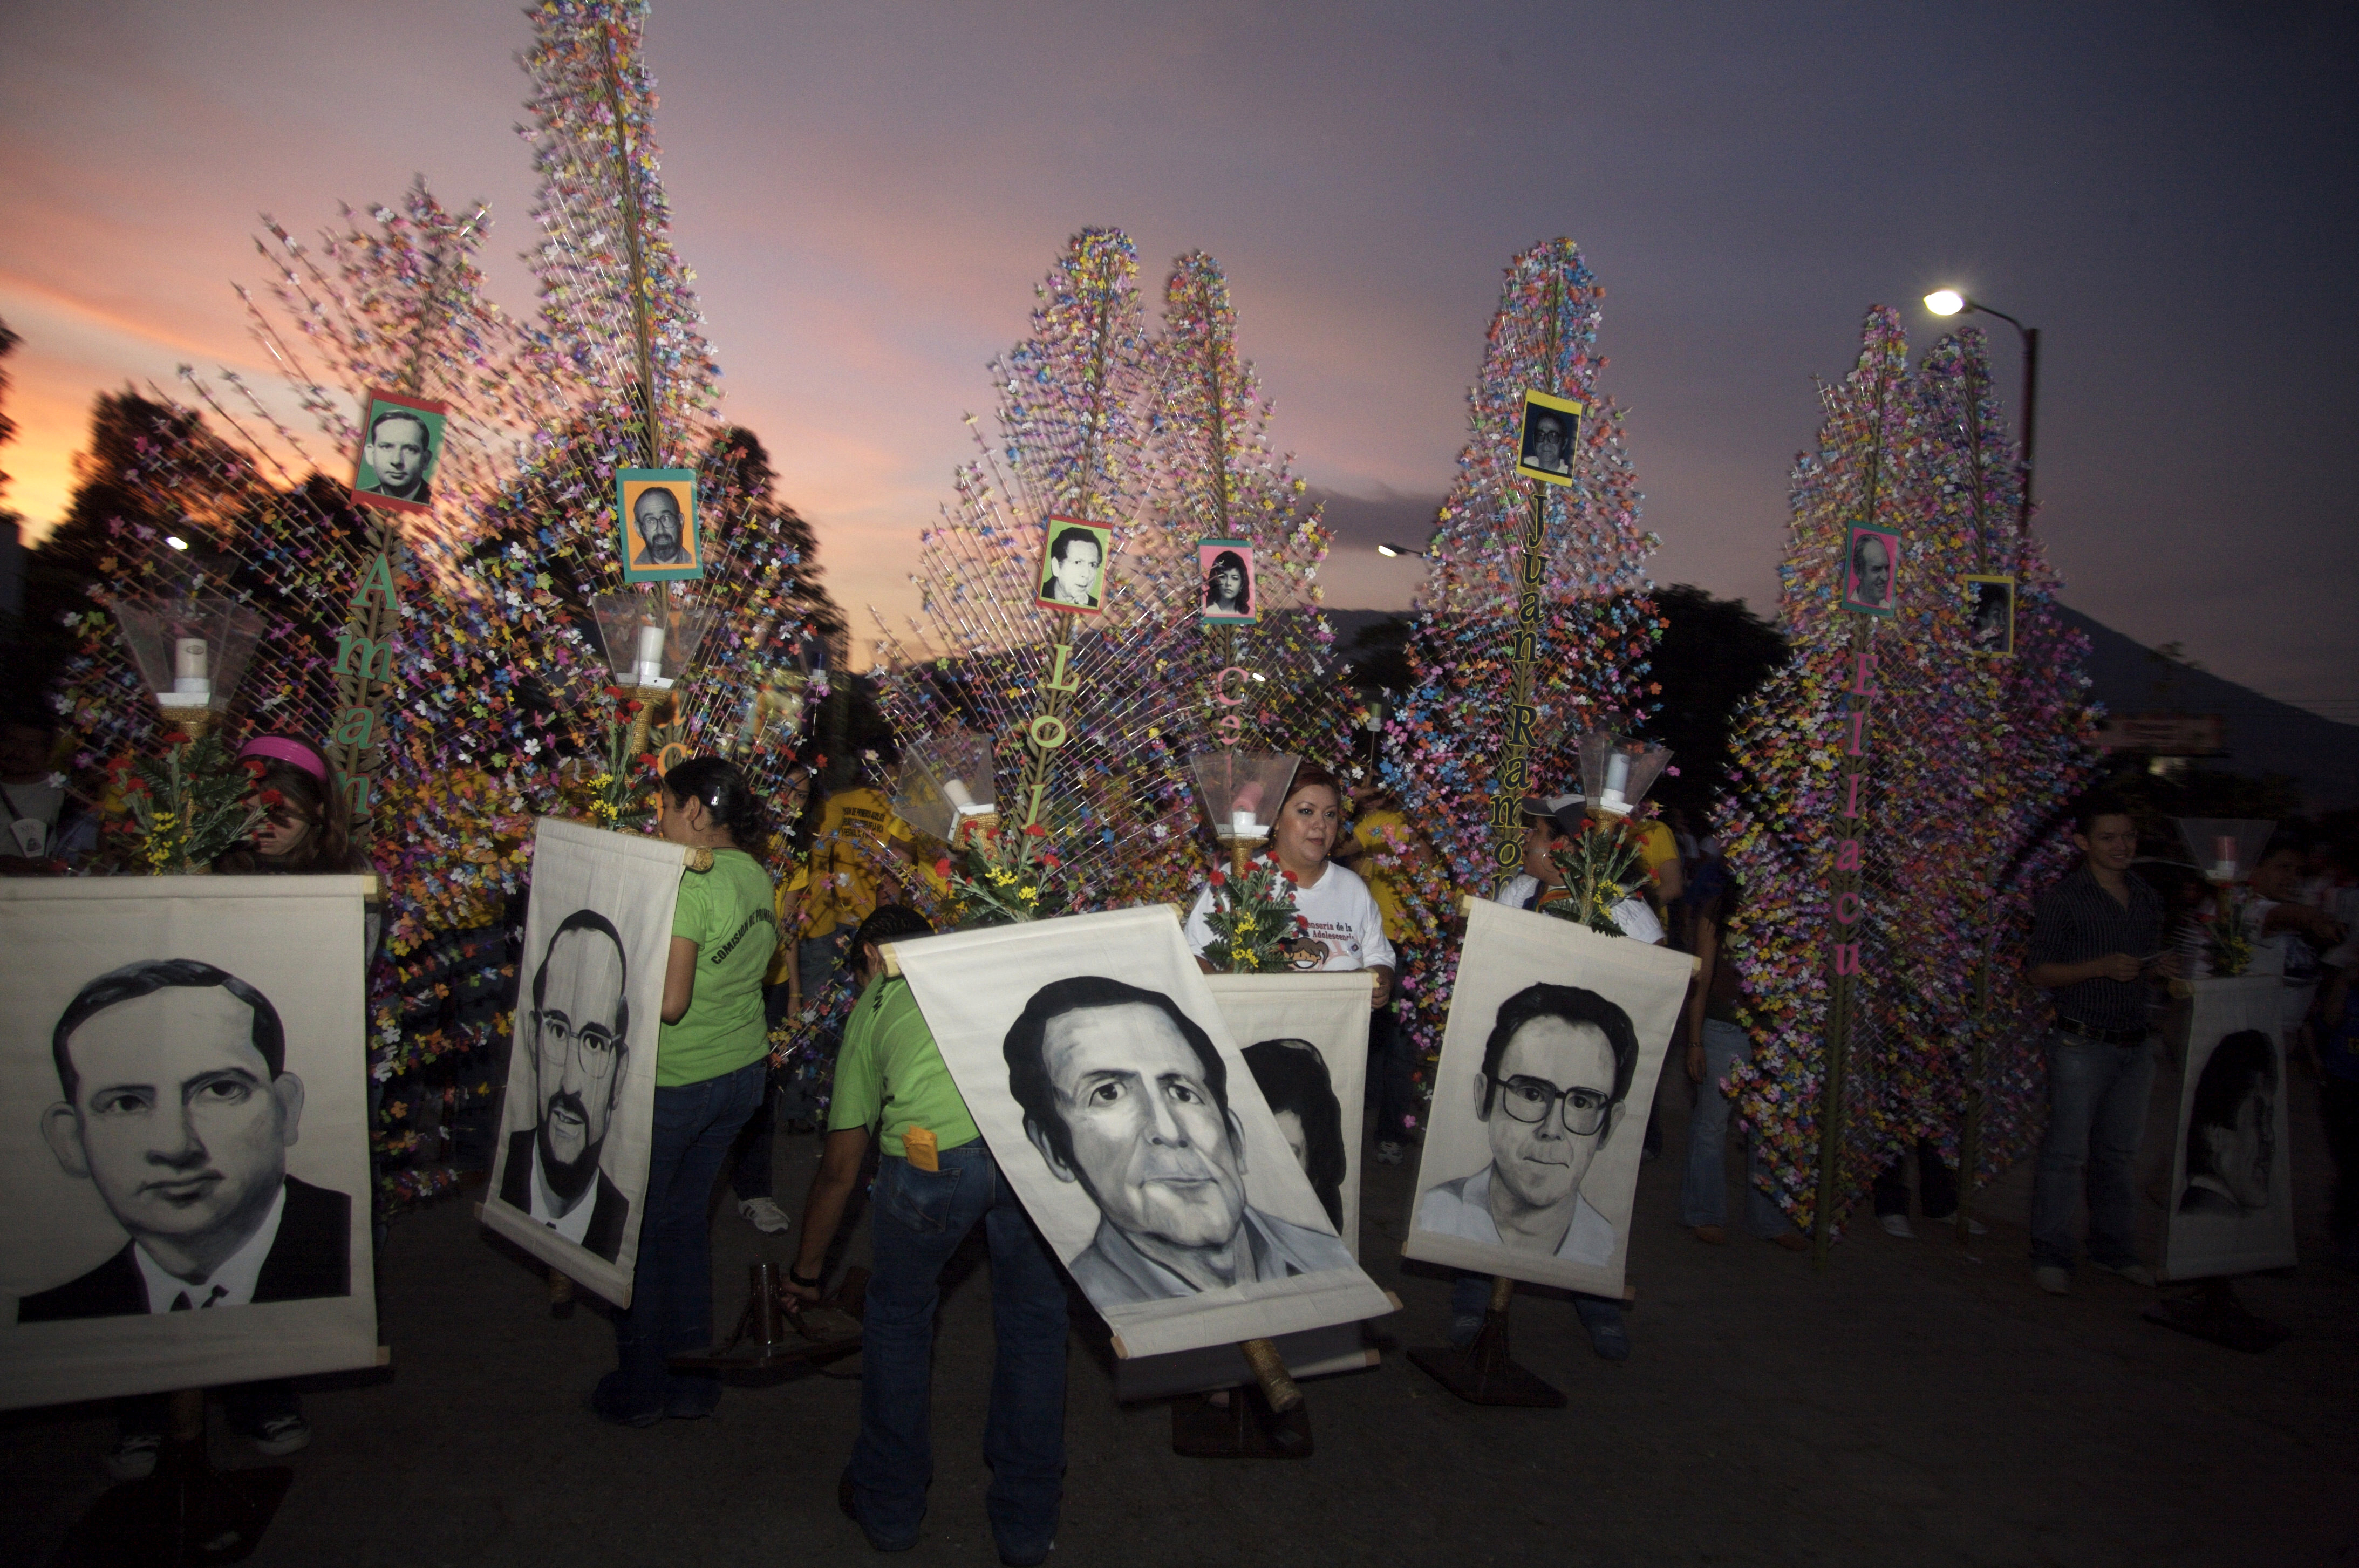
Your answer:
[[[0,882],[0,1408],[377,1363],[373,884]]]

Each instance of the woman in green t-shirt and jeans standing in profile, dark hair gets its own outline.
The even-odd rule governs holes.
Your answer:
[[[663,837],[712,851],[712,870],[679,877],[672,955],[656,1040],[656,1120],[639,1200],[639,1261],[630,1309],[613,1316],[620,1368],[590,1405],[609,1422],[651,1427],[712,1415],[719,1379],[684,1377],[668,1356],[712,1344],[712,1236],[705,1205],[738,1127],[769,1085],[762,971],[778,943],[762,802],[719,757],[663,776]]]

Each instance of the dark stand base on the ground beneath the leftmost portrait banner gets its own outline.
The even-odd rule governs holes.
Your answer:
[[[172,1396],[172,1436],[156,1474],[109,1488],[73,1530],[73,1568],[198,1568],[241,1563],[262,1544],[295,1483],[285,1464],[212,1469],[205,1457],[205,1394]]]

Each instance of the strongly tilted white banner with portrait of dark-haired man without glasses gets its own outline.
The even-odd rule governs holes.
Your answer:
[[[1286,1146],[1172,908],[899,941],[894,960],[1121,1356],[1392,1311]]]

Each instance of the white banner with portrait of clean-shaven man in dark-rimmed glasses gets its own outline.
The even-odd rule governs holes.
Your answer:
[[[1618,1297],[1691,971],[1670,948],[1472,903],[1401,1254]]]

